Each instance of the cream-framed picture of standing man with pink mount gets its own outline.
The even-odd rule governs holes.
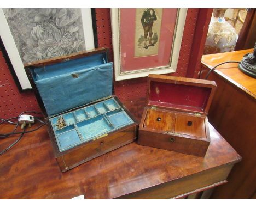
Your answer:
[[[115,80],[176,71],[187,9],[111,9]]]

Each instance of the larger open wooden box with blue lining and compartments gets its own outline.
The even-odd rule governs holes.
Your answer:
[[[133,142],[138,123],[112,95],[108,48],[25,66],[62,172]]]

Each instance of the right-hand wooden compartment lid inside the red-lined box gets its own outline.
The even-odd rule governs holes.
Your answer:
[[[188,125],[189,121],[191,122],[191,125]],[[205,118],[177,113],[174,132],[206,138]]]

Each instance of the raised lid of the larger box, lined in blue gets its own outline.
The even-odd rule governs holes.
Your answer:
[[[28,63],[25,70],[46,117],[112,95],[108,48]]]

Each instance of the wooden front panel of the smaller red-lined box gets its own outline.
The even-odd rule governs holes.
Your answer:
[[[144,146],[153,146],[154,148],[203,157],[210,141],[139,130],[138,143]]]

